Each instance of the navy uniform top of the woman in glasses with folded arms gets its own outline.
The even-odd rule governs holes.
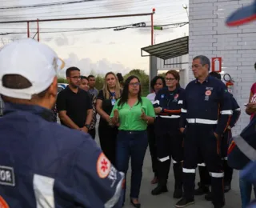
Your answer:
[[[162,110],[158,117],[161,118],[180,118],[182,109],[182,96],[185,90],[178,87],[174,92],[170,92],[168,87],[158,91],[154,98],[154,108],[161,107]]]

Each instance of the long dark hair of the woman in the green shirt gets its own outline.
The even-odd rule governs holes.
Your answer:
[[[126,78],[126,82],[124,83],[122,94],[121,94],[120,100],[118,102],[118,106],[123,106],[128,101],[129,84],[130,84],[130,81],[134,78],[137,78],[138,82],[140,82],[139,78],[134,75],[131,75],[129,78]],[[142,86],[139,86],[138,103],[140,103],[140,102],[142,103],[142,95],[141,94],[142,94]],[[137,103],[137,105],[138,105],[138,103]]]

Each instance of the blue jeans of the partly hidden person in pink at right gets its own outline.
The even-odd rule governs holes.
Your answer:
[[[241,173],[241,171],[240,171],[240,173]],[[246,208],[250,204],[250,196],[251,196],[252,186],[253,185],[250,182],[247,182],[243,178],[239,179],[242,208]],[[256,198],[256,187],[255,186],[254,186],[254,195]]]

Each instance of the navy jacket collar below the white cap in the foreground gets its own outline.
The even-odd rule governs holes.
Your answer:
[[[41,106],[34,106],[34,105],[23,105],[23,104],[14,104],[10,102],[5,103],[5,110],[3,114],[10,114],[17,111],[26,111],[30,112],[31,114],[37,114],[41,116],[46,121],[52,121],[54,113],[52,110],[43,108]]]

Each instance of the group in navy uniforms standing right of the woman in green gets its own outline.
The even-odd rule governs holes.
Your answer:
[[[151,81],[154,92],[147,98],[154,105],[156,118],[147,130],[154,171],[151,183],[158,184],[151,194],[168,191],[172,161],[173,198],[180,198],[176,207],[193,204],[194,195],[206,194],[214,208],[221,208],[225,206],[224,192],[230,190],[233,174],[226,162],[231,128],[241,110],[221,82],[221,75],[210,72],[209,58],[195,57],[192,71],[196,79],[185,90],[179,86],[176,70],[168,71],[165,79],[155,77]],[[200,182],[195,189],[197,166]]]

